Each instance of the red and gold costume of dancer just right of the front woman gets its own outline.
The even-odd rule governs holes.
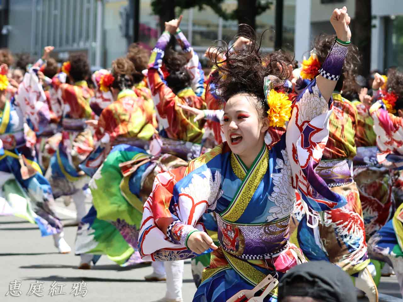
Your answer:
[[[303,213],[303,204],[297,201],[292,230],[297,229],[298,243],[309,260],[330,261],[344,271],[359,277],[355,285],[376,297],[365,240],[364,219],[359,191],[353,180],[350,159],[356,155],[355,133],[357,110],[340,93],[332,95],[334,107],[329,119],[329,140],[324,149],[324,159],[316,167],[318,173],[332,192],[347,199],[347,205],[332,211],[324,211],[317,228],[309,228],[309,217]],[[307,219],[308,218],[308,219]],[[371,267],[372,269],[372,267]],[[361,279],[368,281],[361,286]],[[371,298],[370,298],[371,300]],[[372,301],[372,300],[371,300]]]

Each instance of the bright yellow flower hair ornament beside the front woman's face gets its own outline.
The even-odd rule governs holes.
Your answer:
[[[289,97],[282,92],[273,89],[269,77],[264,78],[264,94],[269,106],[267,111],[270,127],[283,127],[291,117],[292,102]]]

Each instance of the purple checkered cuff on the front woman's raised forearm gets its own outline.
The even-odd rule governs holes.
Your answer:
[[[319,74],[330,81],[338,81],[347,56],[348,46],[334,43],[332,50],[324,61]]]

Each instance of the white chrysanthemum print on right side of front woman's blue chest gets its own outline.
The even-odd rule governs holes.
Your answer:
[[[294,209],[295,189],[291,186],[291,165],[286,150],[282,150],[284,161],[280,158],[276,159],[276,169],[280,169],[278,173],[272,173],[273,192],[269,196],[269,201],[276,204],[270,208],[267,221],[283,218],[289,215]]]

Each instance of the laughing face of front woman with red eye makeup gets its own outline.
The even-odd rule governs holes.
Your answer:
[[[231,151],[247,164],[253,162],[264,143],[268,120],[261,119],[257,110],[255,96],[237,94],[225,104],[223,130]],[[249,160],[248,160],[249,159]]]

